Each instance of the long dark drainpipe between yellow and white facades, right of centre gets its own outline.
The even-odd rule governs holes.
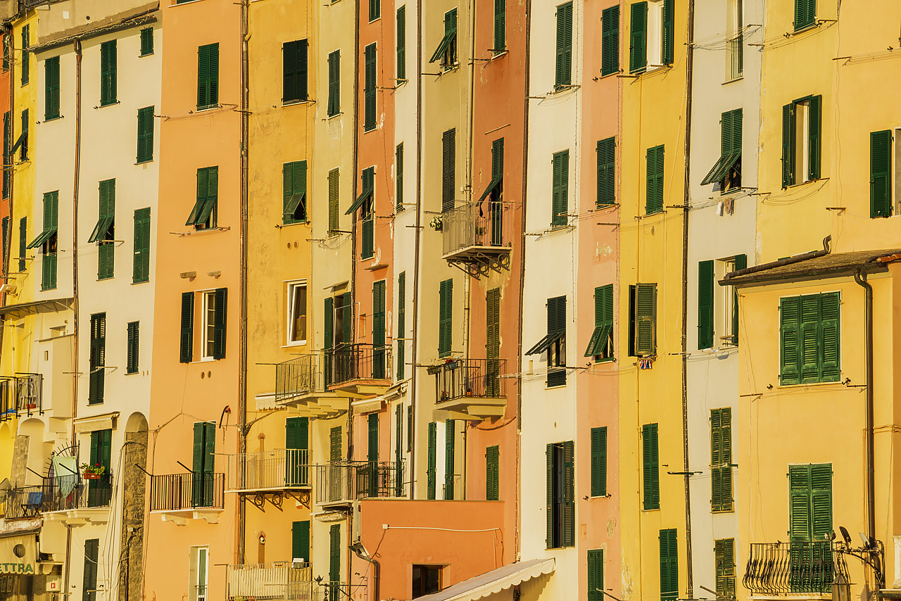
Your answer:
[[[691,561],[691,469],[688,467],[688,205],[691,202],[691,88],[694,67],[695,0],[688,0],[685,60],[685,198],[682,203],[682,471],[685,478],[685,549],[687,596],[695,595]]]

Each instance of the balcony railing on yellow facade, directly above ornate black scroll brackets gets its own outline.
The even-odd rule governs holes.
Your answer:
[[[310,486],[310,451],[277,449],[253,453],[236,453],[234,460],[235,490],[284,490]]]

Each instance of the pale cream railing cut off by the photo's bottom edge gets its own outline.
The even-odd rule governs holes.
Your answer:
[[[322,587],[313,581],[309,562],[291,561],[226,566],[226,599],[318,601]]]

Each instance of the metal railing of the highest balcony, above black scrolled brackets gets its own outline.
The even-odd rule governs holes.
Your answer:
[[[513,215],[508,203],[485,199],[482,203],[467,203],[441,214],[443,254],[471,246],[513,246],[511,235]]]

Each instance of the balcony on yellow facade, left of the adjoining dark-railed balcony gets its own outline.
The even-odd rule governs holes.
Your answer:
[[[336,417],[350,407],[348,396],[326,386],[332,365],[325,352],[301,355],[276,365],[276,405],[295,408],[310,417]]]

